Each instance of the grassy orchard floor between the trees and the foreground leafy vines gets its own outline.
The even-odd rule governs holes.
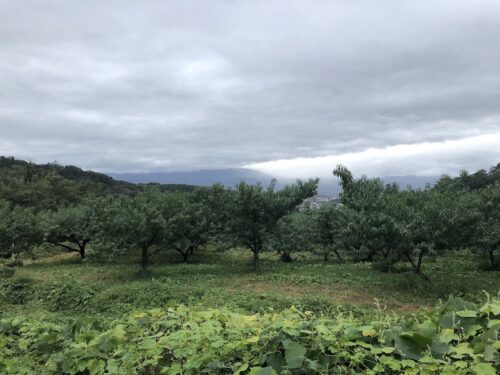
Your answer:
[[[326,312],[382,308],[394,312],[429,309],[449,295],[477,300],[481,292],[496,295],[498,272],[478,270],[467,253],[429,259],[424,271],[431,283],[402,269],[381,273],[369,263],[324,263],[309,253],[282,263],[266,253],[258,273],[251,271],[250,253],[200,251],[191,264],[171,253],[155,259],[146,275],[130,258],[123,263],[81,263],[71,254],[39,259],[18,268],[19,285],[4,287],[5,314],[116,316],[134,309],[186,304],[229,308],[242,313],[281,310],[291,305]]]

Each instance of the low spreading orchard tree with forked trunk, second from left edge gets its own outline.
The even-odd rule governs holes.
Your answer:
[[[74,207],[61,207],[41,215],[45,241],[76,252],[85,258],[87,245],[98,231],[95,202],[87,201]]]

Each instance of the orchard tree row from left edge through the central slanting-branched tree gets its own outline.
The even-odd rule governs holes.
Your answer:
[[[245,246],[254,268],[278,221],[316,193],[318,180],[298,181],[280,191],[274,183],[222,185],[193,192],[147,188],[135,196],[87,199],[57,210],[35,212],[6,202],[0,209],[0,249],[4,257],[47,242],[85,258],[89,244],[108,255],[139,251],[143,269],[150,257],[173,249],[185,262],[208,242]]]

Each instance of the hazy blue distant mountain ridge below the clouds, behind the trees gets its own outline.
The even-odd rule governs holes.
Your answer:
[[[241,181],[249,184],[258,182],[263,185],[268,185],[273,176],[253,169],[246,168],[230,168],[230,169],[202,169],[197,171],[182,171],[182,172],[150,172],[150,173],[108,173],[109,176],[116,180],[132,182],[136,184],[160,183],[160,184],[187,184],[197,186],[209,186],[214,183],[221,183],[224,186],[232,187]],[[396,183],[402,189],[411,186],[414,189],[424,188],[427,184],[434,185],[439,176],[385,176],[381,177],[385,184]],[[276,178],[277,188],[281,188],[287,184],[295,182],[291,178]],[[321,179],[318,192],[338,193],[341,188],[338,184],[338,179],[333,176],[328,179]]]

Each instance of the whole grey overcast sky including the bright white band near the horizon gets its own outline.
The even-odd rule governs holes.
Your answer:
[[[0,154],[113,172],[500,162],[500,1],[0,0]]]

